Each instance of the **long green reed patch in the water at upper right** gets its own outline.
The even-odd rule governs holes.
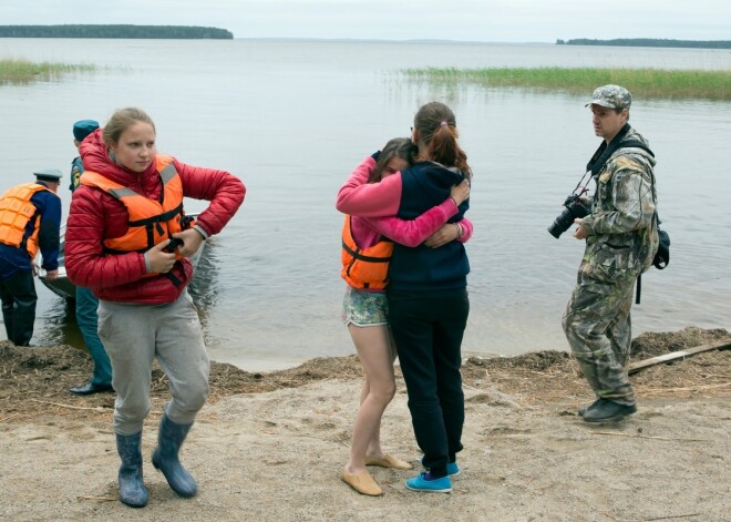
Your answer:
[[[641,98],[731,100],[731,71],[663,71],[658,69],[406,69],[413,81],[443,85],[474,84],[572,93],[593,92],[607,83],[622,85]]]

